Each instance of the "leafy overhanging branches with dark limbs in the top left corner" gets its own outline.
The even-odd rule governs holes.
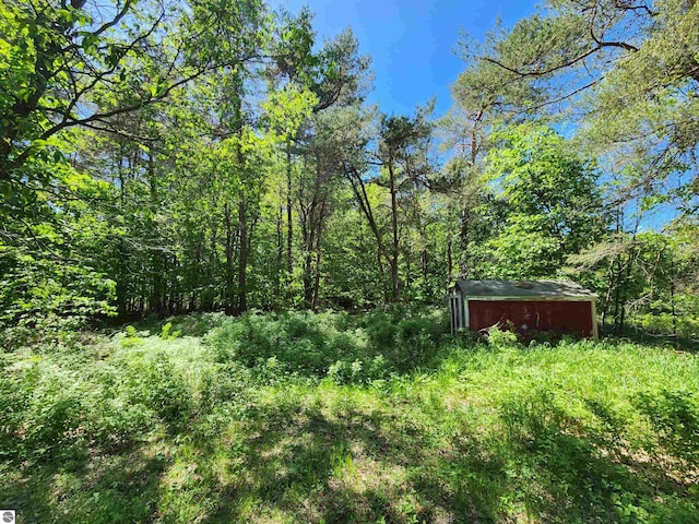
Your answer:
[[[209,70],[257,56],[259,47],[248,41],[258,39],[260,19],[252,13],[259,4],[211,7],[116,0],[96,10],[81,0],[3,2],[0,32],[7,45],[0,52],[12,67],[0,70],[0,181],[16,182],[17,169],[45,154],[64,129],[103,127],[110,117],[166,99]],[[236,47],[223,46],[223,52],[222,41],[232,39]],[[202,40],[220,49],[206,51]],[[91,104],[106,92],[128,95]]]

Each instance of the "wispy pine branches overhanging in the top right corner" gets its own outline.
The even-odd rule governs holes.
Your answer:
[[[465,107],[493,107],[506,118],[577,115],[595,154],[624,175],[620,198],[663,194],[691,212],[698,21],[691,0],[550,0],[484,46],[465,46],[469,69],[454,93]],[[481,85],[489,98],[474,106]]]

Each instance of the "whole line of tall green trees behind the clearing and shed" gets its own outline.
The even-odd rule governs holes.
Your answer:
[[[436,119],[369,106],[370,58],[351,29],[319,41],[307,10],[3,2],[0,323],[572,276],[619,331],[632,311],[697,336],[698,8],[588,3],[464,39]]]

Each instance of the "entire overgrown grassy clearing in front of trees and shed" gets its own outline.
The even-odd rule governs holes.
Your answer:
[[[437,314],[209,315],[0,354],[20,523],[699,522],[699,361]]]

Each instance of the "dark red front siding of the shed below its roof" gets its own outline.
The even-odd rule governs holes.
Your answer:
[[[519,333],[554,331],[593,336],[592,305],[569,300],[469,300],[469,329],[514,324]]]

